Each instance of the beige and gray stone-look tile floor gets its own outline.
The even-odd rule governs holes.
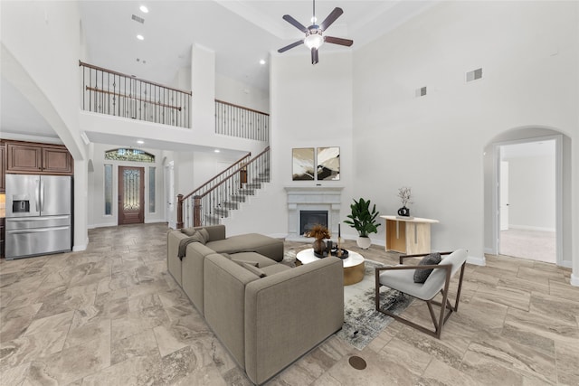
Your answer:
[[[167,274],[166,231],[165,224],[101,228],[90,231],[83,252],[2,259],[0,383],[251,384]],[[362,253],[396,261],[379,246]],[[487,262],[467,267],[459,313],[441,340],[398,322],[363,351],[331,336],[268,384],[579,385],[571,271],[497,256]],[[421,302],[404,315],[428,321]],[[348,364],[352,355],[365,359],[365,370]]]

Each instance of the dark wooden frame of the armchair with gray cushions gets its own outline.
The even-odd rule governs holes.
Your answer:
[[[441,252],[441,255],[449,255],[451,253],[452,252]],[[400,264],[403,264],[403,259],[419,258],[419,257],[427,256],[427,255],[429,255],[429,253],[422,253],[422,254],[416,254],[416,255],[402,255],[402,256],[400,256]],[[446,321],[451,316],[451,314],[453,312],[457,312],[459,309],[460,290],[462,288],[462,278],[464,277],[464,268],[466,266],[466,261],[464,263],[462,263],[462,265],[460,266],[459,286],[458,286],[454,305],[451,305],[451,302],[449,301],[448,297],[449,297],[449,287],[451,284],[452,266],[450,264],[442,264],[443,262],[444,262],[444,260],[442,260],[441,264],[428,265],[428,266],[403,266],[403,265],[400,265],[400,266],[394,266],[394,267],[375,268],[375,306],[376,306],[376,311],[379,311],[379,312],[383,313],[384,315],[388,315],[390,317],[393,317],[395,320],[403,323],[404,325],[410,325],[411,327],[413,327],[419,331],[422,331],[422,333],[424,333],[424,334],[429,334],[429,335],[432,335],[432,336],[440,339],[441,334],[442,334],[442,326],[446,323]],[[431,269],[431,268],[432,269],[444,269],[445,274],[446,274],[446,278],[444,281],[444,287],[442,287],[441,291],[439,292],[442,294],[442,301],[438,302],[436,300],[432,300],[439,293],[434,295],[434,297],[432,297],[431,299],[425,300],[426,305],[428,306],[428,310],[430,312],[431,318],[432,318],[432,324],[434,325],[434,330],[430,330],[422,325],[418,325],[416,323],[413,323],[410,320],[403,318],[402,316],[394,315],[390,311],[383,310],[380,308],[380,287],[382,287],[382,284],[380,284],[380,271],[395,270],[395,269]],[[420,299],[420,300],[422,300],[422,299]],[[432,309],[432,305],[441,307],[441,313],[440,313],[440,317],[438,319],[436,318],[436,315],[434,314],[434,310]],[[445,305],[445,306],[442,306],[442,305]],[[448,313],[446,313],[446,315],[445,315],[445,312],[447,310],[448,310]]]

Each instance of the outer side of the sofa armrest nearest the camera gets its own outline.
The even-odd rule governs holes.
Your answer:
[[[245,288],[245,372],[267,381],[344,324],[344,268],[335,257]]]

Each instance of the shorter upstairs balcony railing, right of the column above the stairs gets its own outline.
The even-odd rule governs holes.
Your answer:
[[[270,141],[270,115],[215,99],[215,133]]]

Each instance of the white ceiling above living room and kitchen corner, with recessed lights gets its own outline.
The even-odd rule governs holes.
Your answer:
[[[324,61],[324,52],[356,50],[438,1],[318,0],[319,21],[334,7],[344,10],[325,34],[354,40],[351,48],[324,44],[319,60]],[[140,5],[147,5],[149,12],[142,13]],[[215,52],[217,73],[269,90],[270,55],[279,55],[277,49],[304,37],[282,16],[290,14],[306,26],[312,16],[309,0],[81,0],[79,6],[87,62],[170,86],[176,86],[177,71],[190,68],[191,47],[199,44]],[[132,20],[133,14],[142,17],[144,24]],[[145,40],[138,41],[139,33]],[[283,55],[303,55],[304,61],[310,60],[303,46]],[[259,63],[261,59],[265,65]],[[40,115],[30,113],[30,105],[26,106],[24,97],[4,78],[0,87],[3,137],[14,131],[56,137]]]

